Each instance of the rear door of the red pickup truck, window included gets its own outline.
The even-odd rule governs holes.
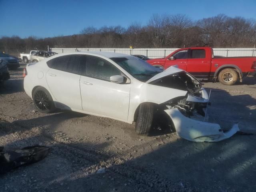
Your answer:
[[[206,49],[192,48],[188,52],[187,72],[196,78],[208,78],[211,61],[211,53],[208,53]]]

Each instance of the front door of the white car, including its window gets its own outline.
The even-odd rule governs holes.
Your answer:
[[[82,107],[85,112],[127,120],[130,84],[110,82],[110,76],[123,75],[110,62],[84,56],[85,76],[80,78]]]

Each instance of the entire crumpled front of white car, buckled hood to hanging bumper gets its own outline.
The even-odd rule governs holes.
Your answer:
[[[172,119],[178,136],[194,142],[216,142],[239,131],[238,124],[223,132],[219,124],[205,122],[209,96],[202,83],[191,74],[172,66],[147,83],[187,92],[160,105]]]

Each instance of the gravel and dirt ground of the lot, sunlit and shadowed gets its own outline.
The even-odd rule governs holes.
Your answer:
[[[23,90],[22,69],[0,88],[0,146],[52,145],[46,158],[0,176],[0,191],[199,191],[256,189],[256,80],[206,82],[210,122],[243,132],[216,143],[183,140],[170,130],[137,136],[134,124],[86,114],[41,114]],[[105,168],[104,173],[97,173]]]

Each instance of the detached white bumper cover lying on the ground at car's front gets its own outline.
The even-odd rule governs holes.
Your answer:
[[[238,124],[223,132],[219,124],[202,122],[184,116],[177,108],[165,110],[172,118],[177,135],[194,142],[217,142],[233,136],[239,131]]]

